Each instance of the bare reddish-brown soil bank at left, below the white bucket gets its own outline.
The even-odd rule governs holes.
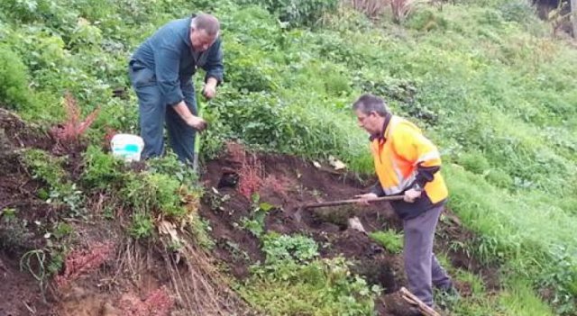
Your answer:
[[[151,305],[169,302],[164,287],[169,284],[168,275],[159,273],[164,270],[162,258],[148,256],[142,262],[126,262],[137,257],[132,254],[146,251],[127,249],[119,223],[104,220],[98,209],[102,194],[86,194],[89,213],[80,220],[67,218],[41,199],[39,192],[46,184],[23,165],[22,149],[43,149],[65,157],[63,167],[76,181],[86,146],[62,146],[49,132],[0,109],[0,315],[167,315],[151,313],[156,312]],[[73,234],[67,239],[47,238],[46,233],[62,222]],[[62,271],[41,286],[39,280],[42,273],[48,273],[48,266],[42,268],[38,258],[49,262],[52,251],[62,247],[69,254],[62,258]]]

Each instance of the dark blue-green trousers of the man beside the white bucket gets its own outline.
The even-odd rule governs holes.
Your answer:
[[[132,60],[128,70],[133,89],[138,97],[141,137],[144,140],[142,158],[164,153],[164,125],[169,134],[170,147],[183,162],[192,162],[195,148],[195,129],[188,126],[173,106],[167,104],[156,83],[154,72]],[[191,80],[180,86],[191,113],[197,114],[195,90]]]

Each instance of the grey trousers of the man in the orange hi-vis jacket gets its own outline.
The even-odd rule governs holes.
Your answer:
[[[403,221],[403,256],[409,291],[429,306],[433,306],[433,285],[438,288],[452,286],[451,278],[433,254],[435,228],[442,211],[443,206],[435,207]]]

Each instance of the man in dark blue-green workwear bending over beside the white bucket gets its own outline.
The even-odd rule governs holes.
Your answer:
[[[210,14],[171,21],[133,53],[129,76],[140,112],[142,158],[162,155],[166,122],[172,149],[181,161],[192,162],[196,131],[206,129],[197,115],[192,76],[206,71],[203,95],[215,96],[224,75],[220,23]]]

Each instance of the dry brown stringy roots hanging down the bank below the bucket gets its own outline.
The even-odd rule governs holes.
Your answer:
[[[175,307],[172,315],[251,314],[244,302],[230,290],[229,283],[213,266],[205,251],[188,241],[192,237],[179,236],[178,240],[176,250],[175,239],[169,235],[160,236],[161,248],[152,244],[141,246],[138,242],[127,240],[120,251],[113,282],[120,282],[127,274],[136,287],[142,284],[144,274],[169,280],[169,293]],[[154,266],[155,254],[159,253],[164,261],[163,269],[154,270],[151,266]],[[148,306],[146,302],[140,302],[143,304],[141,310]]]

